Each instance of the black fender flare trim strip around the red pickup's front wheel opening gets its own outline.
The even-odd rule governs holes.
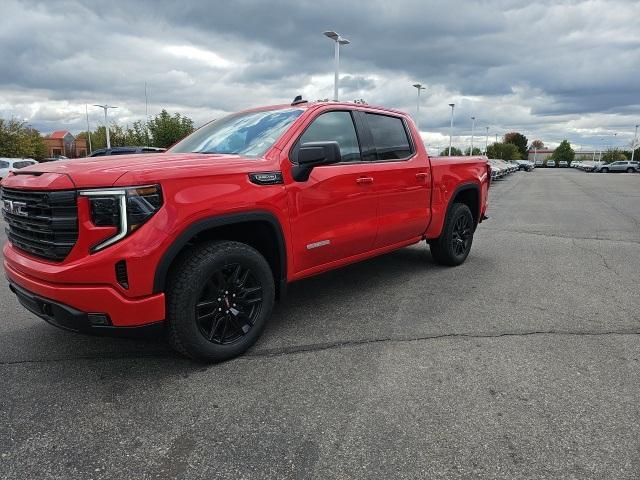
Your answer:
[[[279,281],[276,282],[276,284],[280,289],[280,296],[282,297],[284,295],[287,284],[287,250],[284,241],[284,233],[282,232],[282,227],[276,216],[273,213],[266,211],[251,211],[232,213],[228,215],[217,215],[200,219],[186,227],[173,241],[169,248],[167,248],[167,250],[162,254],[162,258],[156,266],[156,272],[153,279],[153,293],[155,294],[164,292],[171,264],[178,256],[178,254],[182,251],[182,249],[196,235],[216,227],[255,221],[269,223],[276,234],[277,246],[279,251],[278,253],[280,257],[280,278],[277,279]]]

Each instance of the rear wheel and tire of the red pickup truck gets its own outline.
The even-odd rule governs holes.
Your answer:
[[[471,251],[474,229],[469,207],[464,203],[454,203],[445,219],[442,234],[429,242],[433,260],[451,267],[463,263]],[[461,230],[466,233],[462,234]]]

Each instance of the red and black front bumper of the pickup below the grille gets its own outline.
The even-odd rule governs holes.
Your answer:
[[[94,331],[91,314],[106,314],[99,328],[138,327],[165,317],[164,294],[126,298],[110,286],[50,284],[12,268],[4,260],[11,290],[22,305],[53,325],[74,331]],[[87,327],[87,328],[85,328]]]

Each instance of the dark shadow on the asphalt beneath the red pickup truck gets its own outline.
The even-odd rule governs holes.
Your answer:
[[[370,315],[367,309],[372,298],[381,298],[402,284],[415,281],[416,274],[431,276],[442,268],[432,263],[429,249],[420,244],[292,283],[285,301],[276,305],[263,337],[248,353],[260,355],[271,350],[274,343],[295,348],[296,344],[321,342],[315,330],[318,323],[331,329],[343,321],[341,311],[357,315],[362,310]],[[30,321],[5,331],[3,343],[8,348],[0,353],[0,363],[166,358],[182,364],[184,360],[169,348],[160,329],[126,337],[82,335],[31,318],[19,306],[9,309],[22,312]],[[198,365],[184,362],[183,365]]]

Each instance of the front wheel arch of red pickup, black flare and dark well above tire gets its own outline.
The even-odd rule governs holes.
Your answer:
[[[257,235],[247,236],[254,228]],[[268,232],[268,233],[267,233]],[[194,243],[220,238],[239,240],[256,248],[269,263],[276,283],[276,295],[282,298],[287,285],[287,251],[284,233],[276,216],[266,211],[251,211],[207,217],[187,226],[163,253],[153,280],[153,293],[166,290],[167,279],[178,256]]]

